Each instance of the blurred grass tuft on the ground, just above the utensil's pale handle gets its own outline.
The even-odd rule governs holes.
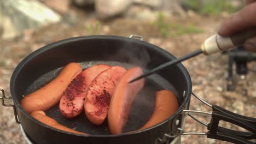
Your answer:
[[[193,26],[191,23],[189,25],[181,25],[180,23],[176,25],[166,20],[166,16],[162,11],[158,13],[158,20],[152,23],[152,25],[158,28],[159,33],[162,37],[167,38],[168,36],[176,36],[189,33],[202,33],[202,29]]]

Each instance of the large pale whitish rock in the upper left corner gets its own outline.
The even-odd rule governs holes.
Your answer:
[[[22,34],[25,29],[59,22],[61,16],[35,0],[8,0],[0,2],[0,19],[0,37],[8,39]]]

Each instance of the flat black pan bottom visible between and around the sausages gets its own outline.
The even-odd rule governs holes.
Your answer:
[[[135,67],[135,65],[131,65],[128,63],[108,62],[108,61],[82,62],[79,64],[82,65],[83,69],[86,69],[98,63],[109,64],[112,66],[121,65],[126,69]],[[56,77],[56,75],[59,74],[60,70],[61,68],[52,70],[49,73],[46,73],[45,75],[39,77],[39,79],[34,81],[32,85],[28,87],[25,95],[30,94],[36,91],[36,89],[38,89],[39,87],[44,86],[45,83],[48,83],[54,77]],[[137,97],[133,101],[130,116],[127,121],[128,123],[124,128],[124,132],[139,129],[145,123],[147,123],[147,121],[149,120],[150,116],[152,116],[152,113],[154,111],[155,93],[157,91],[160,91],[162,89],[168,89],[174,92],[176,95],[178,95],[176,89],[174,89],[171,83],[166,81],[160,75],[155,74],[147,77],[145,83],[146,84],[144,88],[142,89],[141,92],[138,93]],[[45,113],[47,116],[54,118],[57,122],[61,123],[62,125],[66,125],[66,127],[69,127],[77,131],[82,131],[84,133],[92,134],[92,135],[110,134],[107,121],[105,121],[101,125],[94,125],[91,122],[89,122],[89,120],[84,115],[84,112],[82,112],[78,117],[75,117],[75,118],[65,118],[61,115],[59,111],[59,105],[56,105],[51,109],[49,109],[48,111],[45,111]]]

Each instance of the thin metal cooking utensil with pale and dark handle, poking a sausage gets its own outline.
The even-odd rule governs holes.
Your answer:
[[[227,50],[232,49],[238,45],[244,44],[247,39],[252,38],[255,35],[256,35],[256,28],[254,28],[254,27],[246,29],[245,31],[235,33],[235,34],[231,35],[230,37],[222,37],[219,34],[214,34],[214,35],[212,35],[212,37],[206,39],[202,43],[201,49],[191,52],[188,55],[185,55],[181,58],[174,59],[173,61],[161,64],[152,70],[146,71],[144,74],[136,77],[135,79],[131,80],[129,83],[139,80],[148,75],[151,75],[151,74],[155,73],[156,71],[162,70],[172,64],[177,64],[179,62],[185,61],[185,60],[187,60],[191,57],[197,56],[201,53],[204,53],[205,55],[212,55],[213,53],[216,53],[216,52],[227,51]]]

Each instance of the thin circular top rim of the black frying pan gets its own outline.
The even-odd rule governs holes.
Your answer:
[[[132,135],[132,134],[138,134],[138,133],[143,133],[144,131],[147,131],[149,129],[154,129],[156,127],[159,127],[160,125],[170,121],[172,118],[176,117],[179,113],[182,112],[182,110],[185,108],[185,106],[189,105],[189,101],[190,101],[190,97],[191,97],[191,92],[192,92],[192,83],[191,83],[191,77],[188,73],[188,70],[184,67],[184,65],[182,63],[178,63],[177,67],[179,68],[179,71],[181,71],[181,73],[183,73],[185,80],[187,81],[187,92],[185,93],[185,98],[184,101],[182,102],[182,104],[179,106],[179,109],[171,116],[168,117],[167,119],[165,119],[165,121],[154,125],[153,127],[147,128],[147,129],[143,129],[143,130],[139,130],[139,131],[134,131],[133,133],[123,133],[123,134],[118,134],[118,135],[114,135],[114,134],[108,134],[108,135],[82,135],[82,134],[74,134],[74,133],[69,133],[67,131],[63,131],[63,130],[59,130],[59,129],[55,129],[53,127],[49,127],[46,124],[43,124],[42,122],[39,122],[37,119],[33,118],[30,114],[28,114],[20,105],[20,101],[18,100],[18,98],[15,95],[15,80],[16,77],[18,76],[18,74],[20,73],[20,71],[22,70],[23,67],[25,67],[25,65],[30,62],[34,57],[40,55],[41,53],[48,51],[50,49],[53,49],[55,46],[58,45],[63,45],[63,44],[67,44],[67,43],[72,43],[75,41],[80,41],[80,40],[90,40],[90,39],[115,39],[115,40],[130,40],[132,43],[137,43],[137,44],[141,44],[141,45],[147,45],[152,49],[155,49],[157,51],[159,51],[161,53],[162,56],[174,59],[176,57],[174,57],[170,52],[167,52],[166,50],[162,49],[159,46],[153,45],[148,43],[147,41],[142,41],[142,40],[137,40],[137,39],[132,39],[132,38],[127,38],[127,37],[121,37],[121,36],[117,36],[117,35],[86,35],[86,36],[80,36],[80,37],[73,37],[73,38],[68,38],[68,39],[63,39],[60,41],[56,41],[54,43],[45,45],[43,47],[40,47],[40,49],[31,52],[29,55],[27,55],[24,59],[22,59],[22,61],[17,65],[17,67],[15,68],[13,74],[11,75],[11,79],[10,79],[10,93],[12,95],[14,104],[16,105],[16,109],[18,107],[18,109],[28,118],[30,118],[32,121],[36,122],[39,125],[43,125],[44,127],[51,129],[51,130],[55,130],[55,131],[59,131],[61,133],[65,133],[65,134],[72,134],[72,135],[77,135],[77,136],[84,136],[84,137],[118,137],[118,136],[125,136],[125,135]],[[15,96],[15,97],[14,97]],[[22,124],[21,124],[22,125]]]

